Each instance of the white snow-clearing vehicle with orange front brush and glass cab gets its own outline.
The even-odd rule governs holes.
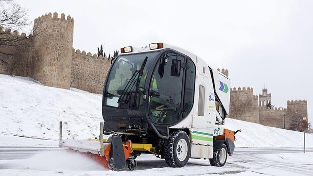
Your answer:
[[[183,167],[189,158],[224,166],[240,131],[223,127],[229,88],[225,74],[181,48],[164,43],[121,48],[104,84],[101,144],[84,141],[83,151],[70,140],[63,146],[113,170],[126,164],[136,169],[141,154],[163,158],[170,167]],[[113,135],[103,143],[103,134]]]

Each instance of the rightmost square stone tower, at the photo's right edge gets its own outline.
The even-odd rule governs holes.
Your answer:
[[[298,123],[302,121],[302,118],[306,117],[308,119],[308,103],[306,100],[292,100],[287,101],[287,119],[286,119],[286,129],[289,129],[290,122],[292,119],[296,118]]]

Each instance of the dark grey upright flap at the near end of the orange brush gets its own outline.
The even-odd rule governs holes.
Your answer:
[[[111,142],[109,166],[113,170],[122,170],[126,165],[122,139],[118,135],[113,135],[109,141]]]

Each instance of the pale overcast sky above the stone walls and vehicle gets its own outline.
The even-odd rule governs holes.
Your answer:
[[[264,84],[272,104],[308,100],[313,112],[312,0],[16,0],[34,20],[63,12],[74,18],[73,47],[113,53],[153,42],[176,45],[227,68],[231,87]]]

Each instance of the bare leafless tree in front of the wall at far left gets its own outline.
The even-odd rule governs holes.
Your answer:
[[[17,31],[30,24],[27,10],[13,0],[0,0],[0,64],[5,66],[10,75],[25,59],[33,57],[33,38],[45,31],[44,28],[37,30],[34,35],[36,29],[33,29],[28,36],[23,33],[18,35]]]

